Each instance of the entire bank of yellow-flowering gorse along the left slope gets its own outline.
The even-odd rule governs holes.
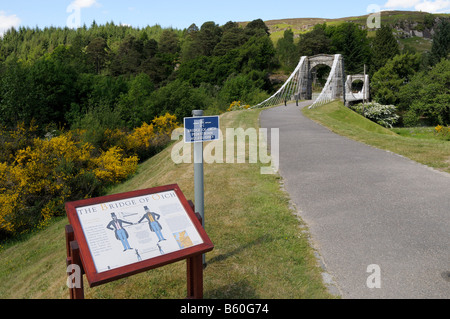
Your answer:
[[[145,159],[139,156],[165,145],[176,127],[166,114],[132,132],[103,132],[111,139],[101,148],[84,141],[84,130],[47,138],[34,135],[33,125],[1,130],[0,239],[45,225],[64,214],[65,202],[99,196],[129,178]]]

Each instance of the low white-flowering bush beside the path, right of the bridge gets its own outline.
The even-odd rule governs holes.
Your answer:
[[[371,102],[353,105],[350,108],[365,118],[387,128],[392,128],[400,119],[400,116],[396,114],[397,108],[394,105]]]

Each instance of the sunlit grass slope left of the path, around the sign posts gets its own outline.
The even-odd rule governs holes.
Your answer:
[[[259,112],[222,115],[226,127],[259,127]],[[143,163],[138,173],[110,193],[177,183],[194,199],[193,164],[176,165],[171,147]],[[265,166],[265,165],[264,165]],[[204,272],[205,298],[326,299],[321,268],[306,226],[290,209],[278,175],[261,175],[260,164],[205,165],[206,230],[215,244]],[[0,251],[0,298],[66,299],[66,218],[4,245]],[[179,299],[186,297],[186,264],[121,279],[96,288],[89,299]]]

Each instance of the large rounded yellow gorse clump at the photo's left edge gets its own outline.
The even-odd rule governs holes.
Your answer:
[[[12,163],[2,163],[0,230],[24,231],[61,213],[64,202],[77,192],[73,181],[93,167],[92,150],[68,132],[50,140],[34,138]],[[90,190],[87,196],[98,189]]]

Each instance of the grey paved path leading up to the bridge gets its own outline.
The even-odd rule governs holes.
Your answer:
[[[261,127],[280,128],[280,174],[342,297],[450,298],[450,174],[338,136],[306,104],[264,111]]]

